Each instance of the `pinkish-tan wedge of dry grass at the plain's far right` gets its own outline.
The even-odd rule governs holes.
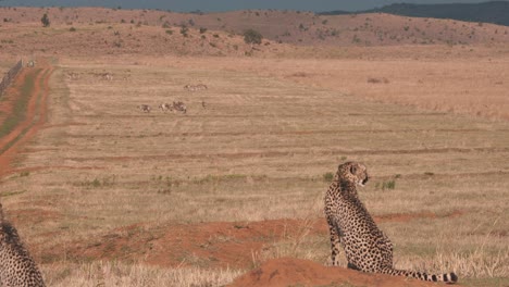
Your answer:
[[[299,54],[305,53],[302,49]],[[509,102],[505,96],[509,89],[509,82],[505,79],[509,61],[507,48],[309,49],[312,54],[328,54],[332,59],[218,59],[213,65],[229,71],[253,71],[384,103],[493,120],[509,118]],[[164,62],[173,66],[204,64],[200,59],[181,62],[170,58]],[[380,84],[371,83],[373,80]]]

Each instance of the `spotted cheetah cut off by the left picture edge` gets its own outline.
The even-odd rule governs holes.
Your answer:
[[[42,276],[28,250],[22,245],[16,228],[3,219],[0,204],[0,286],[41,287]]]

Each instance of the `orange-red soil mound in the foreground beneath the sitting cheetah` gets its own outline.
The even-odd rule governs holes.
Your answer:
[[[275,286],[437,286],[406,277],[361,273],[342,267],[326,267],[308,260],[282,258],[238,277],[231,287]]]

